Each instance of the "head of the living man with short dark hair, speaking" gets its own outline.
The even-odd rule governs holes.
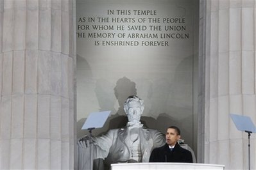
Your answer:
[[[175,146],[178,139],[180,139],[180,129],[175,126],[171,126],[166,130],[166,143],[169,146]]]

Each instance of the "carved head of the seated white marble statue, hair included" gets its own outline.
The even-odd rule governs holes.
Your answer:
[[[130,122],[139,122],[141,120],[143,110],[143,100],[137,96],[130,96],[126,99],[126,102],[124,102],[124,112]]]

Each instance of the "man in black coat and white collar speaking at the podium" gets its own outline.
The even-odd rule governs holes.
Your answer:
[[[167,128],[166,144],[155,148],[150,155],[149,162],[187,162],[192,163],[192,154],[178,144],[180,129],[175,126]]]

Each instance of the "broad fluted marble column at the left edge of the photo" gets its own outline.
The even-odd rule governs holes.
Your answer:
[[[73,1],[0,1],[1,169],[74,168]]]

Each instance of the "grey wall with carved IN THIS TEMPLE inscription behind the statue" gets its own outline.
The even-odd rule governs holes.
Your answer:
[[[198,59],[198,1],[76,1],[76,6],[78,137],[89,134],[81,127],[90,112],[111,111],[103,128],[93,130],[93,135],[124,127],[127,120],[123,104],[128,96],[138,95],[144,100],[141,121],[146,127],[165,133],[167,127],[176,125],[180,127],[185,143],[196,150],[197,111],[193,94],[196,82],[194,61]],[[137,15],[133,10],[155,14]],[[108,11],[114,14],[108,15]],[[123,15],[119,11],[130,14]],[[151,23],[151,17],[158,19],[157,23]],[[96,20],[92,22],[88,18]],[[108,22],[98,20],[102,18]],[[164,21],[173,18],[180,21]],[[115,22],[116,19],[120,21]],[[121,19],[134,21],[124,23]],[[140,19],[145,22],[139,22]],[[81,29],[85,25],[88,29]],[[101,25],[113,29],[93,27]],[[160,30],[151,30],[153,25]],[[123,30],[117,29],[119,26],[123,26]],[[131,26],[143,26],[144,31],[129,29]],[[183,26],[184,29],[166,29],[171,26]],[[91,33],[115,36],[92,38]],[[120,33],[124,38],[117,36]],[[186,33],[189,38],[160,38],[173,33]],[[146,38],[153,34],[155,38]],[[132,35],[141,38],[131,38]],[[142,45],[142,42],[163,41],[168,45]],[[138,45],[104,45],[106,42],[137,42]]]

